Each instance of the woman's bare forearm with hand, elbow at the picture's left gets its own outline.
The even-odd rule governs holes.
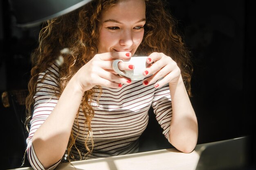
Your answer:
[[[36,157],[45,169],[63,157],[84,92],[95,85],[120,88],[120,83],[129,84],[127,78],[112,73],[112,61],[130,58],[126,54],[97,54],[70,79],[58,103],[32,137]]]

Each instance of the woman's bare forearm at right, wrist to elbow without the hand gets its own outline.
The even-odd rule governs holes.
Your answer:
[[[173,116],[170,125],[169,141],[184,153],[190,153],[198,140],[198,122],[182,81],[169,83]]]

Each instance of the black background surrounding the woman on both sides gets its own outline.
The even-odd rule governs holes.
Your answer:
[[[249,154],[255,163],[255,2],[168,2],[166,8],[176,17],[191,49],[194,67],[191,102],[198,118],[198,144],[250,136]],[[37,46],[40,26],[18,28],[15,21],[7,0],[0,1],[0,93],[27,89],[30,52]],[[4,143],[1,169],[18,168],[25,151],[24,140],[13,108],[0,104]],[[171,147],[159,130],[150,113],[140,151]]]

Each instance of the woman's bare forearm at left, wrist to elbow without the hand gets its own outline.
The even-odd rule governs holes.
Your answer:
[[[34,133],[34,151],[45,169],[63,157],[82,97],[83,92],[72,78],[52,113]]]

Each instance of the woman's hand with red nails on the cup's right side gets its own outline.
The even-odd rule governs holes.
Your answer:
[[[162,80],[155,84],[156,88],[162,87],[167,83],[178,83],[179,78],[181,77],[180,68],[171,57],[166,56],[164,53],[153,52],[148,56],[147,63],[150,63],[151,65],[146,68],[143,74],[145,76],[149,74],[153,75],[144,80],[144,85],[155,83],[160,78],[162,78]]]

